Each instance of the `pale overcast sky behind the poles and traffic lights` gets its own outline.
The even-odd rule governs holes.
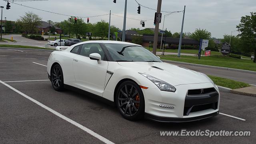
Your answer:
[[[141,7],[140,14],[137,13],[138,4],[135,0],[127,0],[127,19],[126,30],[130,28],[144,29],[140,25],[140,20],[147,20],[145,28],[154,28],[155,10]],[[156,9],[158,0],[137,0],[140,4]],[[32,2],[15,2],[24,6],[10,4],[11,9],[6,10],[6,3],[0,0],[0,5],[4,6],[3,19],[17,20],[20,16],[24,16],[25,12],[33,12],[38,14],[42,20],[52,20],[60,22],[67,20],[68,16],[52,14],[27,8],[30,6],[46,11],[56,12],[77,17],[90,17],[102,14],[108,14],[111,10],[111,25],[123,29],[124,3],[125,0],[48,0],[48,1],[32,1]],[[184,30],[183,32],[194,32],[196,28],[206,29],[211,32],[212,37],[223,38],[224,34],[230,35],[231,31],[237,30],[236,25],[240,23],[240,18],[250,15],[250,12],[256,12],[256,0],[162,0],[161,10],[167,12],[182,11],[186,5]],[[168,14],[166,12],[162,12]],[[183,13],[174,13],[165,18],[164,29],[170,30],[172,33],[180,32]],[[109,15],[90,18],[91,23],[99,20],[109,21]],[[86,22],[86,18],[84,18]],[[163,21],[159,28],[163,28]],[[238,32],[232,34],[237,35]]]

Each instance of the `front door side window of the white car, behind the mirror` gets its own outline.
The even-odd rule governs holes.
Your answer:
[[[101,60],[107,60],[105,53],[103,52],[100,44],[98,43],[83,44],[80,55],[89,57],[90,54],[92,53],[98,53],[101,56]]]

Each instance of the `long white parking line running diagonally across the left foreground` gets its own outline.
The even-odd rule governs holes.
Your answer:
[[[67,122],[70,122],[71,124],[77,126],[78,128],[81,128],[82,130],[84,130],[85,132],[91,134],[92,136],[98,138],[99,140],[101,140],[102,142],[106,143],[106,144],[114,144],[113,142],[111,142],[110,140],[104,138],[103,136],[100,136],[99,134],[97,134],[96,132],[90,130],[89,128],[86,128],[84,126],[82,126],[81,124],[78,124],[77,122],[75,122],[74,120],[71,120],[70,118],[67,118],[66,116],[63,116],[62,114],[56,112],[55,110],[49,108],[48,106],[45,106],[44,104],[38,102],[37,100],[34,100],[33,98],[30,98],[29,96],[27,96],[26,94],[23,94],[22,92],[16,90],[15,88],[13,88],[12,86],[6,84],[5,82],[2,82],[0,80],[0,83],[4,84],[5,86],[7,86],[8,88],[14,90],[15,92],[17,92],[18,94],[24,96],[25,98],[27,98],[28,100],[31,100],[32,102],[38,104],[39,106],[41,106],[42,108],[48,110],[49,112],[51,112],[52,114],[55,114],[56,116],[62,118],[63,120],[66,120]]]

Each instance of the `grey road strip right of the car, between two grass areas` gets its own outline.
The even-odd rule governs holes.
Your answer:
[[[170,64],[174,64],[172,62],[168,62]],[[237,80],[240,82],[245,82],[247,84],[254,84],[256,85],[256,74],[250,74],[246,72],[237,72],[232,70],[222,70],[217,68],[205,68],[201,66],[191,66],[186,64],[174,64],[178,66],[182,66],[184,68],[188,68],[190,70],[195,70],[197,72],[202,72],[204,74],[212,75],[212,76],[218,76],[222,78],[228,78],[232,80]]]

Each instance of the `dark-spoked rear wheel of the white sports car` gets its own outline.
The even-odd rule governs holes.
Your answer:
[[[52,67],[51,70],[51,82],[52,87],[56,91],[64,90],[64,80],[63,80],[63,72],[60,65],[56,64]]]

